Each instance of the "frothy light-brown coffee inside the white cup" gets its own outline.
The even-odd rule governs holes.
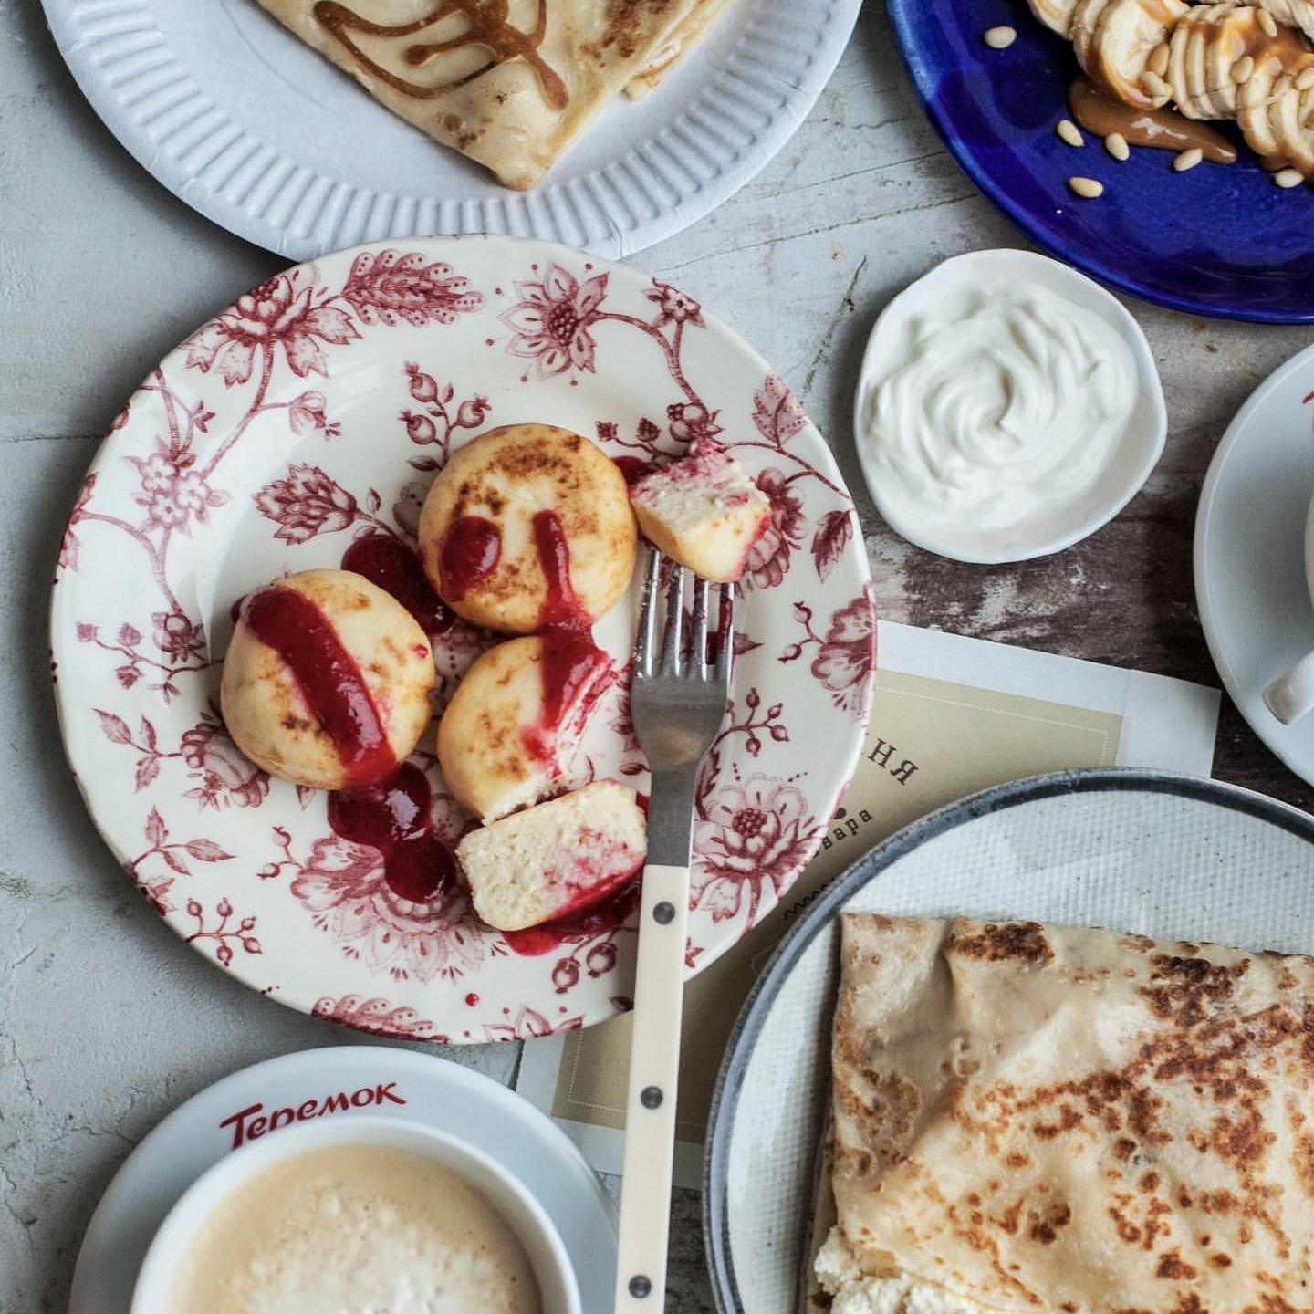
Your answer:
[[[380,1146],[311,1150],[206,1219],[170,1314],[540,1314],[519,1239],[449,1168]]]

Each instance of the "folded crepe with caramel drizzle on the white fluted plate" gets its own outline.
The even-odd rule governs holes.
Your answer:
[[[380,104],[533,187],[619,93],[683,59],[731,0],[259,0]]]

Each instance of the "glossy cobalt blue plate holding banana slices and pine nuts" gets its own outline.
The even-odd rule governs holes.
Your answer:
[[[1172,152],[1114,160],[1054,126],[1079,68],[1022,0],[888,0],[930,121],[974,183],[1037,244],[1113,288],[1173,310],[1267,323],[1314,321],[1314,191],[1276,187],[1240,145],[1234,164],[1172,170]],[[1007,50],[982,34],[1017,29]],[[1080,200],[1074,173],[1104,183]]]

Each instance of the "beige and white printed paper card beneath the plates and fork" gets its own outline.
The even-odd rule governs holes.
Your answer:
[[[1219,692],[1185,681],[882,622],[867,741],[821,848],[753,930],[685,987],[675,1181],[696,1187],[735,1020],[779,937],[867,849],[978,790],[1041,771],[1209,775]],[[619,1173],[629,1017],[530,1041],[516,1089]]]

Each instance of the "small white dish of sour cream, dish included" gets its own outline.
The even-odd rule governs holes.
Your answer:
[[[937,265],[886,307],[855,409],[876,509],[918,547],[1021,561],[1112,519],[1163,451],[1163,389],[1117,298],[1026,251]]]

